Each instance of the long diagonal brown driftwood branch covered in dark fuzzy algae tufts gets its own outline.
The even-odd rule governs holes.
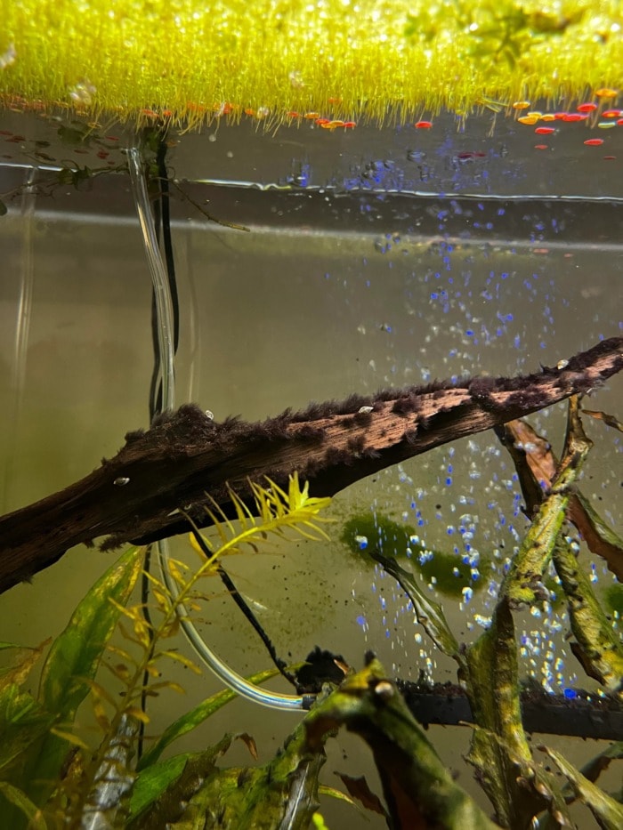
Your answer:
[[[112,548],[182,533],[189,528],[178,508],[205,525],[206,493],[231,515],[229,487],[248,500],[249,480],[285,485],[298,471],[312,495],[332,496],[413,455],[591,391],[621,368],[616,337],[535,375],[353,395],[263,423],[214,423],[183,406],[128,433],[125,447],[84,479],[0,518],[0,592],[96,537]]]

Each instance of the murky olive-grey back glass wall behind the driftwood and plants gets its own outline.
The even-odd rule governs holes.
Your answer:
[[[577,352],[620,336],[620,128],[556,125],[555,133],[535,134],[532,125],[485,109],[467,120],[441,115],[432,125],[383,129],[303,121],[267,134],[249,120],[169,134],[179,297],[175,406],[197,402],[216,422],[231,415],[261,421],[353,392],[562,367]],[[119,125],[33,117],[27,138],[10,113],[0,126],[6,513],[83,478],[116,454],[127,431],[149,427],[158,331],[124,169],[135,137]],[[581,401],[597,415],[583,415],[594,446],[578,482],[619,535],[623,442],[603,413],[620,417],[622,400],[614,377]],[[558,458],[567,410],[561,403],[530,417],[530,440],[544,438]],[[404,584],[372,554],[409,571],[422,595],[441,606],[457,641],[469,644],[490,626],[500,584],[530,528],[524,505],[513,457],[496,432],[484,431],[337,493],[323,514],[331,520],[327,539],[278,540],[225,564],[287,663],[320,646],[360,668],[371,650],[392,678],[454,689],[455,661],[431,639],[421,615],[418,622]],[[205,532],[214,540],[214,530]],[[565,532],[620,636],[620,584],[577,528]],[[196,559],[187,535],[170,545],[179,560]],[[60,633],[117,555],[77,546],[5,593],[3,639],[35,645]],[[597,700],[600,684],[570,649],[553,566],[543,581],[538,602],[514,616],[525,688],[556,700],[583,691]],[[206,591],[211,600],[197,622],[200,636],[238,673],[270,665],[231,592],[216,576]],[[184,641],[178,648],[193,656]],[[183,664],[177,675],[187,692],[184,708],[221,688],[209,673],[195,676]],[[271,685],[291,691],[283,679]],[[150,701],[151,731],[171,721],[171,705],[165,697]],[[428,714],[433,723],[448,722],[436,710]],[[86,724],[89,717],[85,711]],[[295,720],[238,700],[180,746],[195,749],[225,730],[248,731],[265,761]],[[620,740],[618,722],[619,734],[593,739]],[[541,731],[543,719],[535,741]],[[595,740],[587,753],[572,730],[559,731],[545,742],[578,765],[606,745]],[[461,758],[470,730],[433,725],[429,737],[459,783],[490,810]],[[232,763],[242,763],[246,752],[235,748]],[[348,766],[378,788],[371,758],[352,737],[341,733],[328,754],[329,784],[336,784],[333,770]],[[576,809],[578,826],[596,826],[586,808]],[[384,826],[382,816],[363,817],[340,804],[322,812],[328,826]]]

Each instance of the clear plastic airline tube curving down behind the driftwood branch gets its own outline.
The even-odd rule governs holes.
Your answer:
[[[160,367],[162,373],[162,400],[163,407],[171,409],[174,407],[175,379],[174,379],[174,331],[173,331],[173,306],[168,281],[166,279],[165,264],[162,261],[158,247],[158,239],[151,221],[150,198],[147,193],[145,177],[143,175],[143,161],[140,149],[133,147],[128,150],[128,163],[130,170],[130,181],[134,196],[134,205],[141,224],[142,239],[145,252],[150,264],[151,280],[156,298],[156,312],[158,317],[158,351],[160,356]],[[168,568],[169,550],[166,540],[158,543],[158,561],[162,579],[168,591],[177,599],[179,589]],[[300,712],[308,708],[310,700],[308,697],[297,695],[281,695],[279,692],[272,692],[268,689],[261,689],[253,683],[249,683],[244,677],[234,672],[229,665],[209,649],[206,642],[190,620],[188,609],[179,603],[176,606],[176,613],[182,625],[182,630],[198,656],[214,672],[214,674],[240,697],[246,697],[254,703],[268,706],[271,709],[285,709],[289,712]]]

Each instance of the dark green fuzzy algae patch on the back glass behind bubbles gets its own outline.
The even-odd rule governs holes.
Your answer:
[[[349,550],[359,560],[374,564],[370,551],[377,551],[396,560],[409,559],[413,568],[427,583],[444,596],[462,599],[465,588],[476,593],[482,590],[485,580],[473,575],[473,566],[456,553],[445,553],[427,548],[419,541],[416,529],[399,524],[383,513],[362,512],[344,523],[340,535]],[[488,560],[481,556],[479,569],[487,569]]]

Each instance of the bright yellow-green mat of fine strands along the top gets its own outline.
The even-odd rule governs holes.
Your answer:
[[[623,87],[619,0],[0,0],[0,20],[0,101],[93,119],[335,128]]]

